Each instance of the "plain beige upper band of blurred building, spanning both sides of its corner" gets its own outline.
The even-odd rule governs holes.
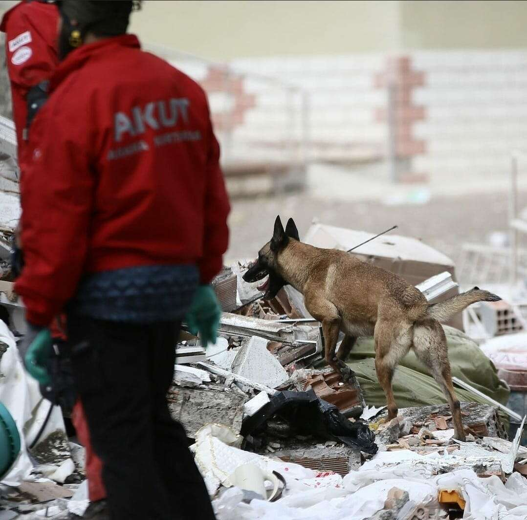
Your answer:
[[[132,22],[144,41],[214,60],[527,47],[525,27],[520,0],[146,0]]]

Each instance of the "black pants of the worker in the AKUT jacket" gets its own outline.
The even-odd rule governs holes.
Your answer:
[[[183,427],[167,407],[179,325],[68,317],[77,391],[112,520],[213,520]]]

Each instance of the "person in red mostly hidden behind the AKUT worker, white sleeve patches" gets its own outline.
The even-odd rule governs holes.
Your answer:
[[[13,119],[18,149],[18,164],[25,171],[27,157],[27,130],[32,116],[45,102],[47,93],[40,87],[58,64],[56,41],[58,9],[52,3],[24,1],[9,9],[0,22],[0,31],[6,35],[6,64],[11,81]],[[28,97],[30,103],[28,113]],[[54,337],[63,339],[58,327]],[[72,421],[77,436],[85,446],[85,470],[88,479],[90,504],[85,518],[104,520],[106,492],[102,482],[101,460],[90,445],[90,436],[82,404],[77,400],[72,410]]]

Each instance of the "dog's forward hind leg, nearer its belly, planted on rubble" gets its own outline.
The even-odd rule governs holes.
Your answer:
[[[380,386],[386,395],[388,419],[397,417],[392,379],[395,367],[412,346],[412,325],[394,325],[392,321],[377,321],[374,332],[375,340],[375,371]]]

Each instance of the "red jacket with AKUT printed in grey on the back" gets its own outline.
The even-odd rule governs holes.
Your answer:
[[[87,272],[196,263],[210,282],[229,202],[201,87],[127,34],[74,50],[50,91],[21,180],[28,321],[48,325]]]

